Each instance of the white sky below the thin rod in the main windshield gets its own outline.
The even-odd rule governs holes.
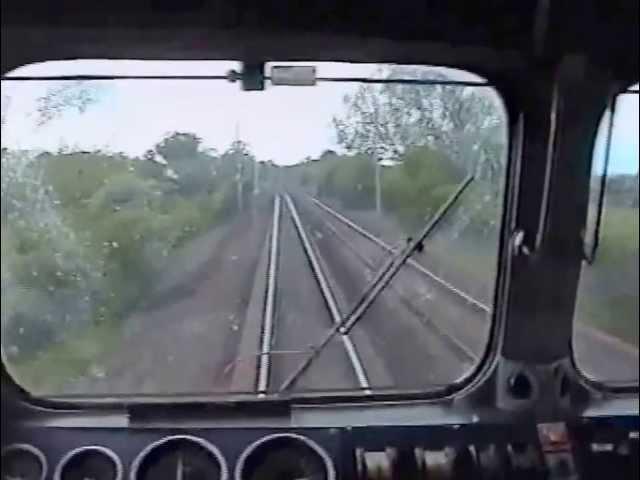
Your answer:
[[[243,92],[237,84],[216,80],[100,84],[104,91],[99,103],[84,114],[67,112],[43,127],[35,123],[34,107],[44,85],[19,85],[21,92],[11,102],[3,145],[56,150],[66,143],[84,150],[103,148],[140,155],[165,134],[182,131],[195,133],[205,146],[223,151],[238,131],[260,160],[288,164],[335,148],[330,121],[349,90],[344,85],[323,85]],[[11,116],[14,108],[34,114]]]

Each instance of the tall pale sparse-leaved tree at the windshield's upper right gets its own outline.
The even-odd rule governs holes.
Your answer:
[[[437,71],[394,67],[388,78],[449,80]],[[490,90],[456,85],[365,84],[346,95],[333,119],[338,143],[376,160],[416,146],[446,153],[458,166],[495,177],[504,168],[503,115]]]

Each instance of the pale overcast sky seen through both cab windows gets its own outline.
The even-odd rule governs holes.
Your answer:
[[[379,67],[370,64],[315,65],[318,75],[326,77],[381,75]],[[224,75],[232,68],[239,66],[236,62],[83,60],[29,65],[11,75]],[[440,70],[451,78],[479,80],[469,73]],[[60,83],[3,82],[2,146],[57,150],[67,145],[140,155],[165,134],[188,131],[219,151],[238,135],[258,159],[291,164],[328,148],[338,149],[331,119],[343,111],[343,96],[358,87],[321,83],[244,92],[239,84],[223,80],[94,81],[99,101],[85,113],[68,111],[38,126],[37,98]],[[625,95],[619,102],[613,146],[612,170],[637,171],[638,95]]]

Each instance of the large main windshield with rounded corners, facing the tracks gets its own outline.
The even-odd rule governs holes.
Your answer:
[[[477,365],[498,94],[445,68],[304,65],[312,86],[263,91],[230,81],[234,62],[49,62],[3,79],[2,358],[19,384],[368,395]]]

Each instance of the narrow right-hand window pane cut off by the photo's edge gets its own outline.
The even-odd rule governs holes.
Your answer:
[[[576,363],[608,383],[638,383],[638,128],[636,84],[617,96],[596,137],[575,309]]]

